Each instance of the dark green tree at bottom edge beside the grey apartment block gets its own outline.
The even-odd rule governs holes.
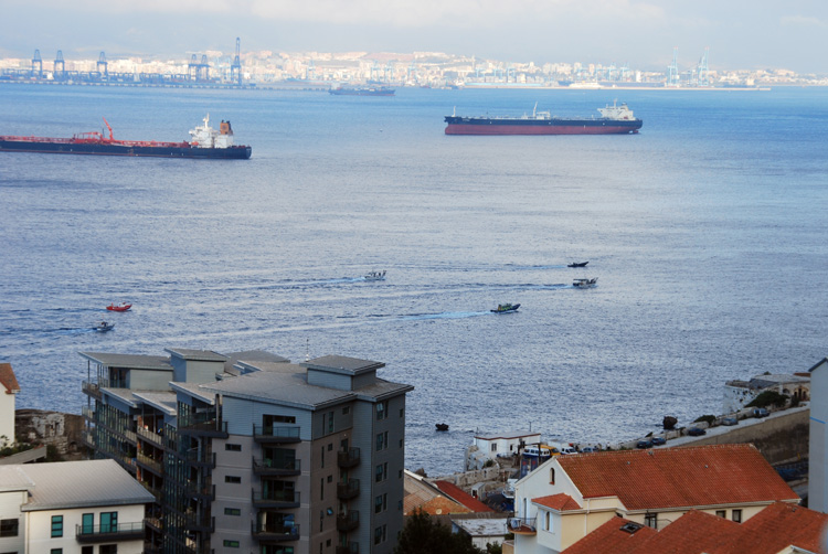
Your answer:
[[[446,525],[416,510],[405,521],[394,554],[486,554],[465,533],[452,533]]]

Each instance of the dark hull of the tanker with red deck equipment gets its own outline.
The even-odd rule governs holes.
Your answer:
[[[198,148],[169,146],[135,146],[68,141],[0,140],[0,152],[34,152],[91,156],[130,156],[147,158],[191,158],[208,160],[247,160],[252,152],[248,146],[230,148]]]

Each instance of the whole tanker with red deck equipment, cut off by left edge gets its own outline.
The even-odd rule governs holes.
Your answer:
[[[210,126],[210,114],[204,125],[190,130],[191,140],[160,142],[156,140],[117,140],[104,118],[109,136],[92,131],[72,138],[0,136],[0,152],[75,153],[95,156],[137,156],[155,158],[194,158],[247,160],[253,152],[248,146],[233,145],[233,128],[222,120],[219,130]]]

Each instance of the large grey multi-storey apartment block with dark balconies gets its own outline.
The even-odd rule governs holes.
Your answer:
[[[81,354],[86,441],[155,494],[153,548],[393,550],[412,386],[380,379],[383,363],[340,355],[166,352]]]

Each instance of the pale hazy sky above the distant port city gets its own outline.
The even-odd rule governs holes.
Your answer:
[[[828,74],[827,0],[2,0],[0,56],[437,51]]]

